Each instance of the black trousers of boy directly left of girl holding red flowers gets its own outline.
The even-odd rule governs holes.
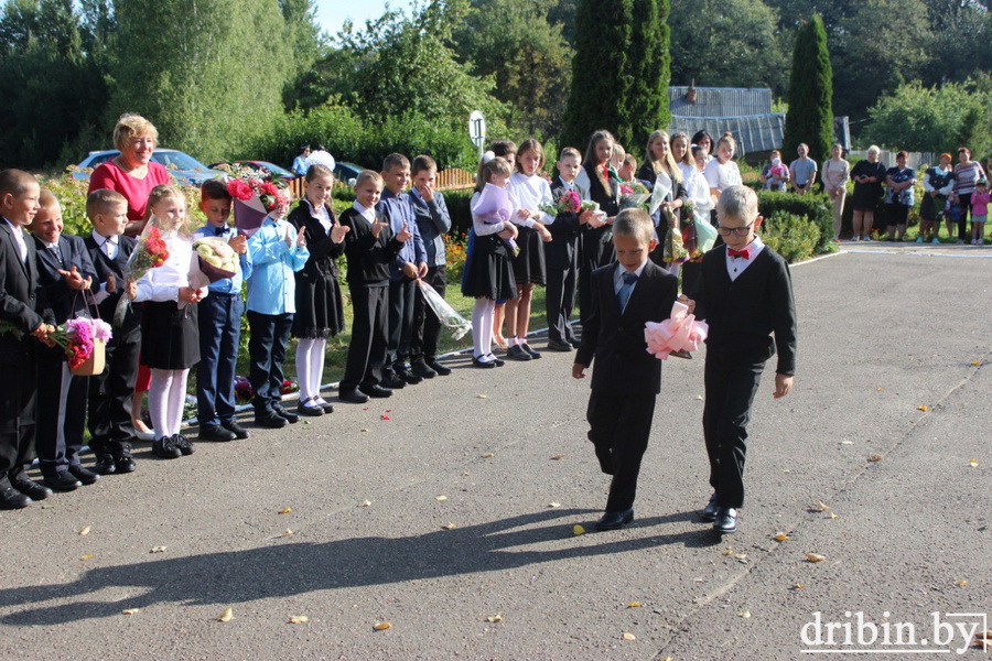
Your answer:
[[[120,451],[134,437],[131,405],[138,382],[141,335],[130,330],[107,343],[107,366],[89,377],[89,447],[96,454]]]

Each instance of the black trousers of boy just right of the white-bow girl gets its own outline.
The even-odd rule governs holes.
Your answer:
[[[386,366],[389,288],[351,285],[352,342],[344,378],[338,390],[348,392],[359,386],[378,386]]]

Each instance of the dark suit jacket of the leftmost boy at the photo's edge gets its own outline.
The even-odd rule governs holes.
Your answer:
[[[23,231],[14,228],[14,231]],[[7,220],[0,217],[0,321],[23,334],[21,339],[11,333],[0,334],[0,365],[23,367],[34,359],[39,343],[28,334],[43,323],[55,322],[44,296],[39,299],[37,266],[34,241],[26,234],[28,260],[21,252]],[[42,312],[39,313],[37,311]]]

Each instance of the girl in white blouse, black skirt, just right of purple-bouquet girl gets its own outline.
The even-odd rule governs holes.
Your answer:
[[[551,240],[546,225],[554,223],[554,216],[540,210],[552,204],[551,186],[538,173],[544,166],[544,149],[541,143],[529,138],[517,152],[517,171],[510,175],[509,191],[515,209],[513,221],[519,225],[517,246],[520,251],[514,257],[514,277],[519,296],[506,302],[507,356],[515,360],[540,358],[539,351],[527,344],[530,326],[530,302],[533,285],[543,285],[547,278],[544,246]]]

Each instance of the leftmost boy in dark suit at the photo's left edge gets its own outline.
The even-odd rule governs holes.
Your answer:
[[[0,322],[9,328],[0,333],[0,510],[52,495],[25,474],[34,442],[35,340],[52,346],[54,330],[52,312],[37,299],[34,241],[22,229],[37,214],[40,194],[26,172],[0,172]]]

